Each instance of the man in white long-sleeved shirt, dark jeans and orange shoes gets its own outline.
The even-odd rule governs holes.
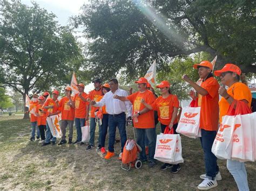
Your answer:
[[[127,92],[123,89],[118,88],[117,79],[112,79],[109,81],[110,90],[106,93],[102,100],[99,102],[91,101],[91,104],[95,107],[103,107],[106,105],[106,112],[109,114],[109,151],[107,152],[105,159],[110,159],[114,156],[114,140],[116,138],[116,128],[119,129],[121,137],[122,151],[126,142],[126,130],[125,130],[125,111],[128,112],[128,116],[132,115],[132,104],[130,101],[120,101],[114,99],[114,95],[118,96],[128,96]]]

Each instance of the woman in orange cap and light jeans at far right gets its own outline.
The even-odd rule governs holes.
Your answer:
[[[250,108],[252,94],[246,84],[239,82],[241,69],[238,66],[227,63],[223,69],[216,70],[214,74],[220,76],[221,83],[228,86],[227,90],[223,86],[219,88],[219,94],[222,96],[219,101],[220,122],[222,121],[222,117],[227,115],[228,108],[234,100],[243,101],[247,103]],[[234,107],[236,107],[236,105],[234,105]],[[227,169],[233,175],[239,190],[249,190],[244,162],[227,160]]]

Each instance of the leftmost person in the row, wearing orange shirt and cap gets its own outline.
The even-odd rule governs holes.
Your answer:
[[[36,129],[37,129],[36,140],[39,140],[39,137],[40,137],[40,132],[37,126],[37,116],[34,115],[37,105],[38,105],[38,95],[33,94],[33,97],[30,102],[29,111],[28,111],[30,112],[30,122],[31,122],[31,138],[30,138],[31,141],[35,140]]]

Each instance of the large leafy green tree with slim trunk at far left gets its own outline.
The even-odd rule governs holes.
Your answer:
[[[0,0],[0,80],[23,95],[70,83],[83,61],[72,31],[32,2]],[[25,104],[24,104],[25,105]],[[24,115],[24,118],[28,115]]]

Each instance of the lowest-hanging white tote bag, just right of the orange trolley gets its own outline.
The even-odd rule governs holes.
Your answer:
[[[176,150],[177,137],[178,135],[172,134],[157,135],[154,159],[159,161],[164,160],[167,163],[171,163]]]

